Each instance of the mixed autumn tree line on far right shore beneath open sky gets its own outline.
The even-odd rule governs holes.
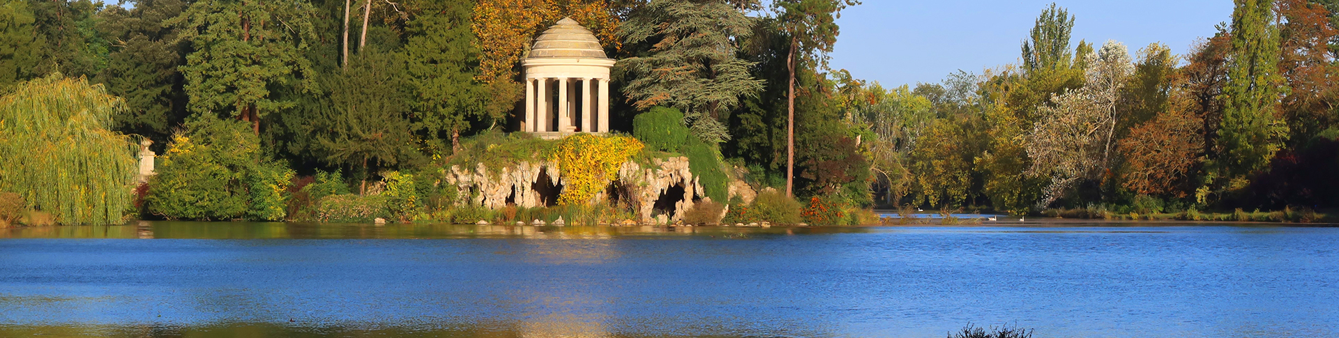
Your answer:
[[[1154,200],[1172,210],[1332,207],[1336,31],[1328,1],[1236,1],[1188,55],[1070,44],[1052,5],[1020,63],[893,90],[844,80],[890,203],[1010,212]]]

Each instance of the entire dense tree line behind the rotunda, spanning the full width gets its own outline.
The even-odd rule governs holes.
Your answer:
[[[1052,4],[1016,64],[897,87],[829,69],[853,0],[0,1],[0,92],[51,73],[103,86],[125,100],[111,130],[236,176],[208,202],[229,211],[198,218],[268,218],[237,194],[277,194],[288,168],[364,190],[514,130],[520,61],[562,17],[621,60],[615,130],[678,108],[694,142],[787,195],[1015,214],[1339,202],[1334,1],[1237,0],[1182,56],[1075,45],[1082,21]]]

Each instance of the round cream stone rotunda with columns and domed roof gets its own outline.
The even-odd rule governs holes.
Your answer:
[[[534,39],[525,68],[525,123],[544,139],[609,131],[609,68],[600,39],[564,17]]]

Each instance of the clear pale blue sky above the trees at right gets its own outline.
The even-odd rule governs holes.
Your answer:
[[[842,11],[832,68],[884,87],[937,83],[957,69],[1016,63],[1040,0],[864,0]],[[1231,0],[1055,1],[1075,16],[1073,44],[1125,43],[1133,55],[1162,43],[1184,55],[1214,25],[1229,21]]]

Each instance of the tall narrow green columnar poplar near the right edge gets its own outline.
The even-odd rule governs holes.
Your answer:
[[[1251,174],[1265,170],[1288,136],[1277,116],[1287,92],[1279,75],[1279,27],[1272,0],[1236,0],[1232,11],[1232,53],[1223,122],[1209,182],[1227,190],[1245,187]],[[1197,191],[1204,202],[1208,190]]]

